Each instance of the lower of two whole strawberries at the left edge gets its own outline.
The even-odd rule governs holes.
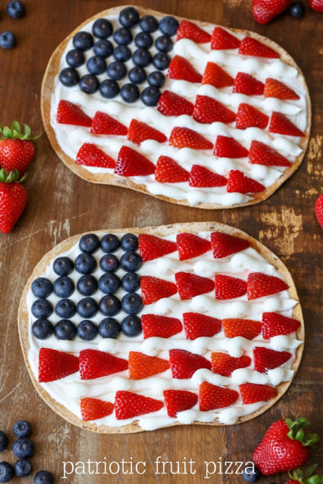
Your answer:
[[[18,170],[0,170],[0,231],[11,232],[27,203],[27,190],[20,184]]]

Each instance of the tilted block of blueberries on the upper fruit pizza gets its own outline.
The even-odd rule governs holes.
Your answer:
[[[85,93],[92,94],[100,90],[104,98],[112,99],[120,93],[126,102],[135,102],[141,97],[147,106],[157,105],[160,88],[164,86],[165,76],[162,71],[169,67],[171,58],[169,51],[173,48],[171,36],[176,34],[178,20],[171,16],[163,17],[158,23],[152,15],[140,15],[136,8],[126,7],[119,15],[121,27],[113,29],[112,23],[106,18],[95,20],[92,34],[77,32],[73,38],[74,49],[67,52],[66,62],[69,67],[60,72],[60,82],[67,87],[76,86]],[[135,36],[131,30],[139,25],[140,32]],[[154,41],[153,32],[160,30],[162,35]],[[133,38],[134,37],[134,38]],[[110,38],[110,40],[109,40]],[[112,41],[113,40],[113,41]],[[130,44],[135,44],[130,48]],[[150,48],[154,45],[157,53],[152,55]],[[93,49],[94,55],[86,60],[86,51]],[[133,67],[128,71],[125,62],[132,60]],[[79,76],[78,67],[86,64],[89,74]],[[155,71],[147,75],[146,68],[152,64]],[[107,73],[108,79],[99,81],[100,74]],[[118,81],[126,78],[121,88]],[[147,80],[149,86],[142,90],[138,84]]]

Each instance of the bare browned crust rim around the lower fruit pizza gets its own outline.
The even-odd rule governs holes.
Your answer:
[[[233,227],[230,227],[228,225],[224,224],[219,224],[216,222],[191,222],[191,223],[186,223],[186,224],[171,224],[171,225],[162,225],[159,227],[143,227],[143,228],[130,228],[130,229],[104,229],[100,231],[96,231],[97,234],[102,231],[105,231],[106,233],[112,233],[112,234],[126,234],[128,232],[131,232],[133,234],[152,234],[156,236],[167,236],[169,234],[173,233],[178,233],[178,232],[192,232],[196,233],[198,231],[221,231],[224,232],[225,234],[230,234],[233,236],[237,236],[240,238],[244,238],[247,241],[249,241],[250,246],[254,248],[255,250],[258,251],[263,257],[265,257],[270,264],[272,264],[275,269],[279,271],[280,274],[284,276],[284,281],[289,285],[289,296],[295,300],[298,300],[298,294],[296,287],[294,285],[294,281],[291,278],[291,274],[289,273],[289,270],[286,268],[286,266],[283,264],[279,258],[273,254],[268,248],[263,246],[260,242],[256,241],[255,238],[252,238],[248,234],[246,234],[244,231],[241,231],[239,229],[235,229]],[[95,233],[95,232],[94,232]],[[28,326],[29,326],[29,316],[28,316],[28,310],[27,310],[27,293],[29,289],[31,288],[32,281],[34,281],[35,278],[41,276],[41,274],[44,274],[44,271],[46,270],[46,267],[48,267],[48,264],[55,259],[55,257],[58,257],[62,252],[65,252],[67,250],[70,250],[78,241],[79,238],[84,235],[84,234],[78,234],[74,235],[70,238],[67,238],[65,241],[62,241],[61,243],[58,244],[58,246],[55,246],[50,252],[48,252],[44,257],[40,260],[40,262],[37,264],[35,267],[34,271],[32,272],[32,275],[29,277],[27,284],[25,286],[25,289],[22,293],[22,298],[20,300],[20,306],[18,309],[18,330],[19,330],[19,336],[20,336],[20,344],[22,347],[22,354],[25,359],[25,363],[27,366],[27,370],[29,372],[29,376],[32,379],[32,383],[34,384],[35,389],[38,391],[39,395],[43,400],[49,405],[60,417],[64,418],[67,420],[67,422],[70,422],[71,424],[77,425],[81,427],[82,429],[87,429],[91,430],[96,433],[135,433],[135,432],[140,432],[143,431],[141,429],[140,425],[138,422],[133,422],[133,424],[129,424],[126,426],[119,426],[119,427],[110,427],[110,426],[98,426],[97,424],[93,424],[93,422],[83,422],[81,419],[76,417],[70,410],[67,410],[64,406],[60,405],[57,403],[49,394],[44,390],[44,388],[39,384],[37,378],[34,377],[34,373],[32,372],[32,368],[29,365],[28,361],[28,351],[29,351],[29,337],[28,337]],[[304,341],[305,338],[305,331],[304,331],[304,321],[303,321],[303,314],[302,314],[302,309],[301,309],[301,304],[296,304],[296,307],[293,309],[293,318],[296,318],[298,321],[301,321],[301,326],[298,328],[298,331],[296,332],[296,337],[298,340]],[[298,370],[298,366],[301,363],[301,357],[303,354],[303,344],[301,344],[297,349],[295,353],[295,360],[293,364],[291,365],[291,369],[294,370],[294,377],[296,375],[296,371]],[[294,379],[293,377],[293,379]],[[263,405],[259,410],[256,412],[253,412],[249,415],[245,415],[244,417],[239,417],[237,424],[241,424],[242,422],[246,422],[247,420],[251,420],[253,418],[258,417],[258,415],[261,415],[263,412],[268,410],[268,408],[272,407],[279,398],[281,398],[285,391],[289,388],[290,384],[292,382],[292,379],[289,382],[282,382],[278,386],[276,386],[278,394],[275,398],[272,398],[270,403],[267,403],[266,405]],[[213,422],[213,423],[208,423],[205,424],[203,422],[194,422],[194,424],[199,424],[199,425],[212,425],[212,426],[218,426],[218,425],[225,425],[221,424],[219,422]],[[169,426],[175,426],[175,425],[181,425],[180,422],[176,422],[174,424],[171,424]],[[165,427],[163,427],[165,428]]]

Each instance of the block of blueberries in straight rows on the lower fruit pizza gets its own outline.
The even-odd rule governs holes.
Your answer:
[[[120,247],[124,253],[119,259],[114,252]],[[33,281],[32,293],[37,297],[32,304],[32,314],[37,318],[32,325],[34,337],[45,340],[54,334],[58,340],[73,340],[78,335],[81,340],[91,341],[97,335],[116,338],[121,331],[127,336],[140,334],[141,321],[137,314],[143,309],[143,301],[136,293],[140,288],[140,276],[136,271],[143,261],[136,252],[138,237],[125,234],[119,240],[114,234],[105,234],[100,241],[97,235],[86,234],[81,237],[79,248],[81,253],[74,261],[70,257],[54,260],[53,271],[58,278],[53,283],[45,277]],[[93,253],[99,249],[104,253],[99,261],[103,274],[96,278],[93,273],[98,267],[98,257]],[[115,274],[119,268],[125,272],[121,278]],[[79,274],[76,284],[70,277],[74,270]],[[115,295],[119,288],[126,293],[121,300]],[[84,296],[77,304],[70,299],[74,290]],[[95,300],[92,296],[98,290],[103,297]],[[52,293],[59,298],[55,308],[48,300]],[[61,318],[55,325],[48,319],[54,310]],[[120,311],[127,314],[121,324],[114,318]],[[105,316],[99,325],[91,321],[98,313]],[[76,314],[84,318],[78,325],[71,321]]]

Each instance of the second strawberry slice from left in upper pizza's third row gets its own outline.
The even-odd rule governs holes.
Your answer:
[[[235,121],[235,113],[230,111],[228,107],[221,105],[220,102],[208,96],[197,95],[193,118],[199,123],[233,123]]]

